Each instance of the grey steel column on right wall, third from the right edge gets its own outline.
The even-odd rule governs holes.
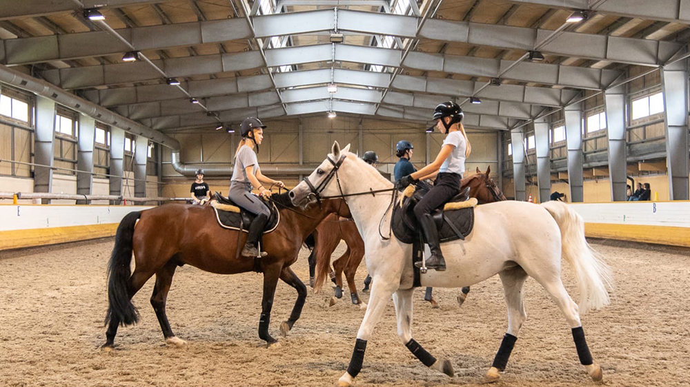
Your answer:
[[[582,104],[565,107],[565,136],[568,145],[568,185],[570,201],[584,201],[584,179],[582,177]]]

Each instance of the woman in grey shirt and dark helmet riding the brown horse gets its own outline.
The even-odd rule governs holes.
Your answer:
[[[242,121],[241,133],[242,140],[237,145],[235,152],[235,169],[233,169],[233,178],[230,180],[230,192],[228,197],[233,200],[236,205],[246,209],[251,213],[256,214],[256,218],[249,225],[249,232],[247,234],[247,242],[242,249],[242,256],[244,257],[259,257],[266,253],[263,251],[259,253],[258,244],[259,237],[264,231],[264,226],[270,216],[268,207],[264,202],[252,193],[252,189],[259,190],[259,194],[270,198],[270,191],[262,185],[262,182],[278,187],[285,187],[282,181],[276,181],[272,178],[267,178],[261,173],[259,162],[257,160],[257,151],[264,139],[264,128],[266,125],[262,124],[258,118],[249,117]]]

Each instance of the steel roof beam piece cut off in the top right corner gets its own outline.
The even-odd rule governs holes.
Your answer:
[[[534,4],[569,10],[589,10],[591,0],[512,0],[515,3]],[[636,17],[644,20],[690,23],[690,3],[685,0],[607,0],[600,1],[596,12],[615,16]]]

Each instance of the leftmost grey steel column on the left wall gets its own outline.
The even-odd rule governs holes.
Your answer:
[[[55,101],[36,96],[34,163],[53,166],[55,160]],[[34,167],[34,192],[52,191],[52,168]],[[50,200],[43,199],[43,204]]]

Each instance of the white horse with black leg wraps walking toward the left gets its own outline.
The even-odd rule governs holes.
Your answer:
[[[411,244],[387,234],[391,213],[386,213],[391,196],[381,193],[392,189],[391,182],[375,168],[349,153],[350,145],[333,153],[295,189],[290,198],[295,205],[308,205],[321,196],[344,196],[348,201],[366,251],[366,269],[373,278],[369,305],[357,332],[355,349],[347,372],[339,386],[351,386],[362,368],[366,340],[380,320],[389,297],[393,295],[397,315],[397,333],[402,343],[430,368],[453,376],[448,359],[437,360],[412,338],[413,264]],[[335,176],[335,178],[333,178]],[[377,191],[372,195],[370,190]],[[392,190],[391,190],[392,191]],[[368,193],[362,195],[361,193]],[[353,195],[359,194],[359,195]],[[392,194],[392,193],[391,193]],[[572,329],[580,363],[594,381],[602,380],[600,366],[593,362],[580,323],[580,310],[609,304],[607,287],[611,269],[584,239],[584,224],[575,211],[561,202],[533,205],[528,202],[495,202],[475,208],[473,231],[464,241],[442,244],[446,271],[422,274],[422,286],[462,287],[500,275],[508,304],[508,332],[496,354],[485,382],[497,381],[504,370],[526,313],[522,304],[522,286],[527,276],[539,282],[551,295]],[[426,249],[428,255],[428,248]],[[575,304],[561,281],[561,257],[575,269],[580,289],[580,306]]]

